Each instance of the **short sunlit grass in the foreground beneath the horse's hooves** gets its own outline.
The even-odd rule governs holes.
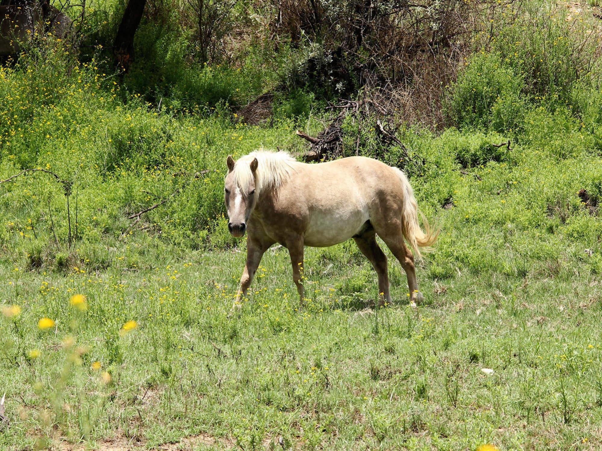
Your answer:
[[[418,310],[396,265],[396,304],[379,310],[371,269],[343,244],[308,250],[311,302],[299,308],[279,249],[228,318],[242,254],[166,253],[161,266],[125,271],[122,252],[101,274],[4,268],[2,298],[23,312],[3,325],[11,425],[0,446],[83,435],[93,446],[122,437],[152,447],[202,432],[244,449],[277,436],[326,449],[601,445],[600,287],[573,265],[525,278],[454,269],[443,281],[420,265]],[[73,293],[87,296],[85,313],[69,306]],[[37,330],[44,316],[56,328]],[[132,319],[137,330],[120,335]],[[85,352],[57,390],[76,346]],[[26,358],[31,349],[40,357]]]

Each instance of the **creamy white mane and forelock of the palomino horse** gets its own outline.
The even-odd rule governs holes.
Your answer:
[[[259,194],[265,189],[278,188],[293,172],[294,159],[287,152],[269,152],[256,150],[249,155],[241,156],[234,165],[234,181],[238,188],[247,194],[249,184],[253,180],[251,162],[257,159],[255,191]]]

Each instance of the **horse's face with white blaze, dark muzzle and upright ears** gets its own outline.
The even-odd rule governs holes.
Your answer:
[[[257,203],[255,195],[255,171],[257,169],[257,159],[250,164],[250,170],[253,177],[247,180],[246,186],[238,185],[234,173],[235,161],[232,156],[228,156],[228,175],[224,183],[224,194],[226,211],[228,212],[228,230],[235,238],[244,235],[247,229],[247,222]]]

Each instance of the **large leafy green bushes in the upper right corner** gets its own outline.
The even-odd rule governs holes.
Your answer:
[[[489,30],[477,33],[478,51],[448,88],[448,121],[531,140],[537,133],[531,127],[538,121],[534,115],[545,110],[554,123],[551,128],[557,124],[562,130],[559,135],[571,135],[571,118],[579,118],[579,132],[587,124],[599,147],[598,42],[592,37],[594,18],[584,16],[572,19],[566,11],[539,2],[507,4],[490,20]]]

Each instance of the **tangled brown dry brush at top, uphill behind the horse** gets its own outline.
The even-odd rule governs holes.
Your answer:
[[[437,128],[441,99],[473,51],[489,2],[346,0],[266,4],[278,43],[306,46],[285,83],[327,99],[370,98],[398,120]]]

